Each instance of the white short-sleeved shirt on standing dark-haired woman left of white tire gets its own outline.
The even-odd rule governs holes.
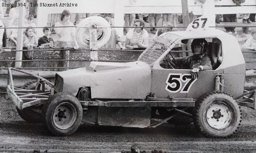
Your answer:
[[[55,23],[55,26],[64,26],[61,22]],[[74,26],[71,22],[68,22],[65,26]],[[57,41],[59,42],[73,42],[72,36],[75,36],[76,28],[74,27],[62,27],[62,28],[54,28],[56,34],[60,34],[61,36],[57,35]]]

